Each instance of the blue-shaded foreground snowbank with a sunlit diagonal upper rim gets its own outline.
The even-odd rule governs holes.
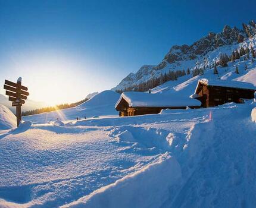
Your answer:
[[[159,207],[180,177],[179,163],[165,153],[160,161],[63,207]]]

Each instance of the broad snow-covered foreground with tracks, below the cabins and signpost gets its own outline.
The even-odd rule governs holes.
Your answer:
[[[255,207],[255,102],[0,132],[0,207]]]

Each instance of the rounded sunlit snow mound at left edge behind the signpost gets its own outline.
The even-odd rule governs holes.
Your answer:
[[[0,130],[15,128],[17,125],[16,116],[7,107],[0,104]]]

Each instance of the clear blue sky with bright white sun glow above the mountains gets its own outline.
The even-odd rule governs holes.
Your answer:
[[[30,99],[73,102],[251,19],[255,1],[0,1],[0,84],[21,75]]]

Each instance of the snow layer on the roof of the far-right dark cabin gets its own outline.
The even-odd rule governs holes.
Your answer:
[[[256,90],[256,87],[251,83],[245,83],[243,81],[232,81],[232,80],[208,80],[207,78],[201,78],[198,80],[199,83],[207,86],[219,86],[219,87],[232,87],[238,89]]]

